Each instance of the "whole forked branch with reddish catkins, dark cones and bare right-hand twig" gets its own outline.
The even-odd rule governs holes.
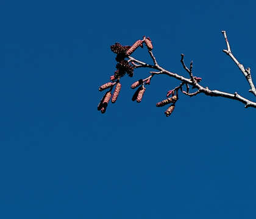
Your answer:
[[[251,69],[250,68],[244,69],[243,64],[239,63],[238,60],[236,60],[236,58],[234,57],[234,55],[231,52],[230,44],[229,44],[229,41],[227,40],[226,31],[223,30],[222,34],[224,35],[224,39],[225,39],[226,45],[227,45],[227,49],[224,49],[223,52],[225,52],[227,55],[229,55],[229,57],[238,66],[240,71],[243,72],[244,77],[246,77],[247,82],[251,86],[251,89],[249,90],[249,92],[252,92],[256,96],[256,89],[255,89],[254,83],[252,82],[252,77],[251,77]],[[148,64],[148,63],[145,63],[144,61],[137,60],[136,58],[133,58],[132,56],[130,56],[139,46],[143,47],[143,43],[145,43],[146,46],[148,47],[149,55],[151,56],[154,64]],[[183,77],[181,74],[177,74],[175,72],[171,72],[171,71],[164,69],[157,63],[157,59],[155,58],[155,56],[152,52],[152,49],[153,49],[152,42],[149,38],[146,38],[146,36],[143,37],[143,40],[136,41],[132,46],[122,46],[121,44],[116,43],[116,44],[112,45],[110,48],[112,49],[113,52],[115,52],[117,54],[116,61],[118,61],[119,63],[116,64],[117,70],[115,71],[115,75],[112,75],[110,77],[110,80],[112,80],[112,82],[105,83],[104,85],[102,85],[99,88],[99,91],[102,91],[103,89],[110,88],[109,91],[107,91],[107,93],[101,100],[100,104],[98,105],[98,110],[101,110],[102,113],[105,113],[105,109],[109,102],[109,99],[111,96],[110,94],[111,94],[111,91],[114,86],[116,86],[116,89],[114,92],[115,100],[116,100],[116,98],[119,94],[120,88],[121,88],[119,79],[121,77],[123,77],[124,74],[126,74],[126,73],[130,77],[132,77],[133,69],[136,69],[136,68],[153,69],[153,71],[149,71],[149,73],[151,74],[151,75],[149,75],[149,77],[140,79],[137,82],[134,82],[131,86],[132,89],[138,87],[137,91],[135,92],[135,94],[133,94],[133,97],[132,97],[132,100],[137,99],[137,102],[141,102],[141,99],[143,98],[144,92],[146,90],[144,85],[150,85],[152,77],[154,75],[165,74],[165,75],[168,75],[169,77],[176,78],[177,80],[179,80],[181,82],[179,86],[176,86],[176,88],[171,89],[170,91],[167,92],[166,96],[167,97],[172,96],[172,97],[169,97],[168,99],[163,100],[163,103],[165,103],[164,105],[166,105],[168,103],[172,103],[172,105],[169,106],[169,108],[165,111],[166,116],[169,116],[172,113],[172,111],[174,111],[175,103],[179,99],[179,97],[178,97],[179,90],[186,96],[190,96],[190,97],[194,97],[197,94],[204,93],[206,96],[224,97],[227,99],[237,100],[238,102],[243,103],[246,108],[248,108],[248,107],[256,108],[256,102],[253,102],[249,99],[242,97],[240,94],[238,94],[238,92],[229,93],[229,92],[218,91],[215,89],[211,90],[207,86],[204,87],[204,86],[200,85],[199,83],[201,82],[202,78],[195,77],[192,72],[193,61],[191,61],[191,63],[190,63],[190,68],[188,68],[184,62],[183,54],[181,54],[180,62],[182,63],[183,69],[185,69],[185,71],[187,71],[188,74],[190,75],[190,78]],[[125,60],[125,58],[129,58],[129,60]],[[115,81],[118,83],[116,83]],[[187,88],[186,91],[183,90],[184,85]],[[190,92],[189,85],[192,85],[192,88],[196,88],[197,91]],[[163,104],[161,106],[163,106]],[[101,108],[101,109],[99,109],[99,108]]]

